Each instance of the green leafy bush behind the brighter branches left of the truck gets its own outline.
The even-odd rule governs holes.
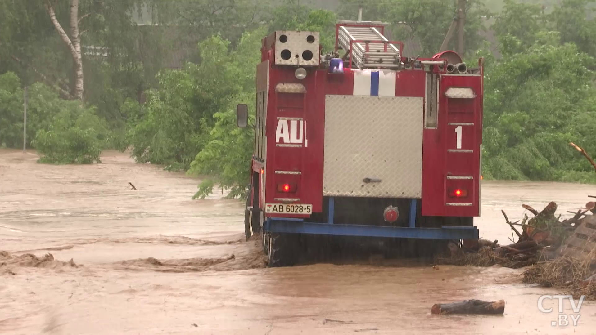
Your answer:
[[[160,73],[161,89],[149,92],[143,117],[129,132],[137,162],[190,168],[209,139],[213,115],[240,92],[228,46],[214,36],[199,44],[200,64]]]

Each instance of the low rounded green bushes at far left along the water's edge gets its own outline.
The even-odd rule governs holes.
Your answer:
[[[14,73],[0,75],[0,146],[23,145],[23,95]],[[93,108],[85,108],[79,101],[62,100],[42,83],[30,86],[27,98],[27,145],[41,154],[39,162],[100,162],[111,131]]]

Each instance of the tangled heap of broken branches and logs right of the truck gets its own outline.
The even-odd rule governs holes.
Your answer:
[[[491,266],[502,265],[509,268],[522,268],[537,262],[555,259],[561,255],[561,247],[567,238],[573,235],[583,219],[596,211],[594,201],[586,203],[585,208],[572,212],[572,218],[561,220],[555,216],[557,204],[549,203],[541,212],[527,204],[522,207],[532,213],[525,215],[522,222],[511,222],[504,211],[505,222],[517,235],[514,243],[501,245],[498,241],[464,240],[461,246],[451,246],[449,258],[439,258],[437,262],[451,265]],[[596,236],[594,237],[596,238]]]

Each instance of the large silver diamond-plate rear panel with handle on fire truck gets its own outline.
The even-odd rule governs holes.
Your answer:
[[[423,114],[421,97],[327,95],[323,194],[420,198]]]

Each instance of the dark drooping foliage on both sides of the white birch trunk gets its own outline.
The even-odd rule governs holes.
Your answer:
[[[84,96],[97,106],[98,115],[122,130],[125,116],[119,113],[126,98],[141,100],[141,93],[157,84],[173,41],[173,29],[164,26],[137,26],[133,14],[153,0],[79,0],[77,27],[85,74]],[[155,1],[157,2],[157,1]],[[0,2],[0,73],[12,71],[23,85],[44,82],[61,97],[76,96],[76,69],[69,48],[61,40],[48,11],[70,34],[70,4],[65,1]],[[186,41],[185,41],[186,42]],[[72,41],[70,41],[72,44]],[[195,42],[193,42],[195,45]],[[151,52],[147,52],[150,49]]]

